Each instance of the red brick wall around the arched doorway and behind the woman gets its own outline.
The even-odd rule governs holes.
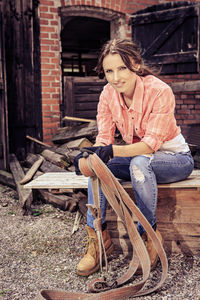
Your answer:
[[[43,140],[51,142],[52,136],[60,126],[60,103],[62,100],[61,68],[60,68],[60,17],[58,7],[70,5],[90,5],[112,9],[127,14],[126,36],[131,37],[128,26],[129,14],[144,9],[147,6],[164,3],[159,0],[40,0],[40,38],[41,38],[41,75],[42,75],[42,117]],[[194,1],[193,1],[194,2]],[[199,79],[197,75],[163,77],[167,82]],[[178,93],[177,119],[179,125],[200,122],[199,93]]]

